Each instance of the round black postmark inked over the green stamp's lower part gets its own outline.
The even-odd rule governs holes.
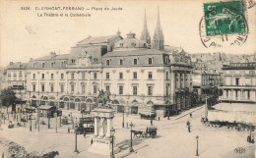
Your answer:
[[[206,48],[242,46],[247,39],[247,31],[244,16],[234,8],[208,11],[199,23],[199,35]]]

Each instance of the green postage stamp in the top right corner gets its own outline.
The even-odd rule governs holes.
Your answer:
[[[247,32],[242,0],[205,3],[204,14],[207,36]]]

